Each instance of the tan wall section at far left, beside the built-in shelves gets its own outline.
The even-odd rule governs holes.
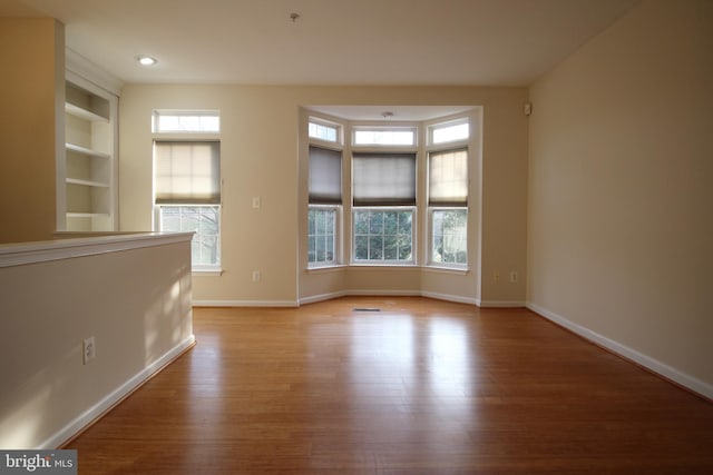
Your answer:
[[[0,243],[50,239],[55,230],[64,58],[61,23],[0,18]]]

